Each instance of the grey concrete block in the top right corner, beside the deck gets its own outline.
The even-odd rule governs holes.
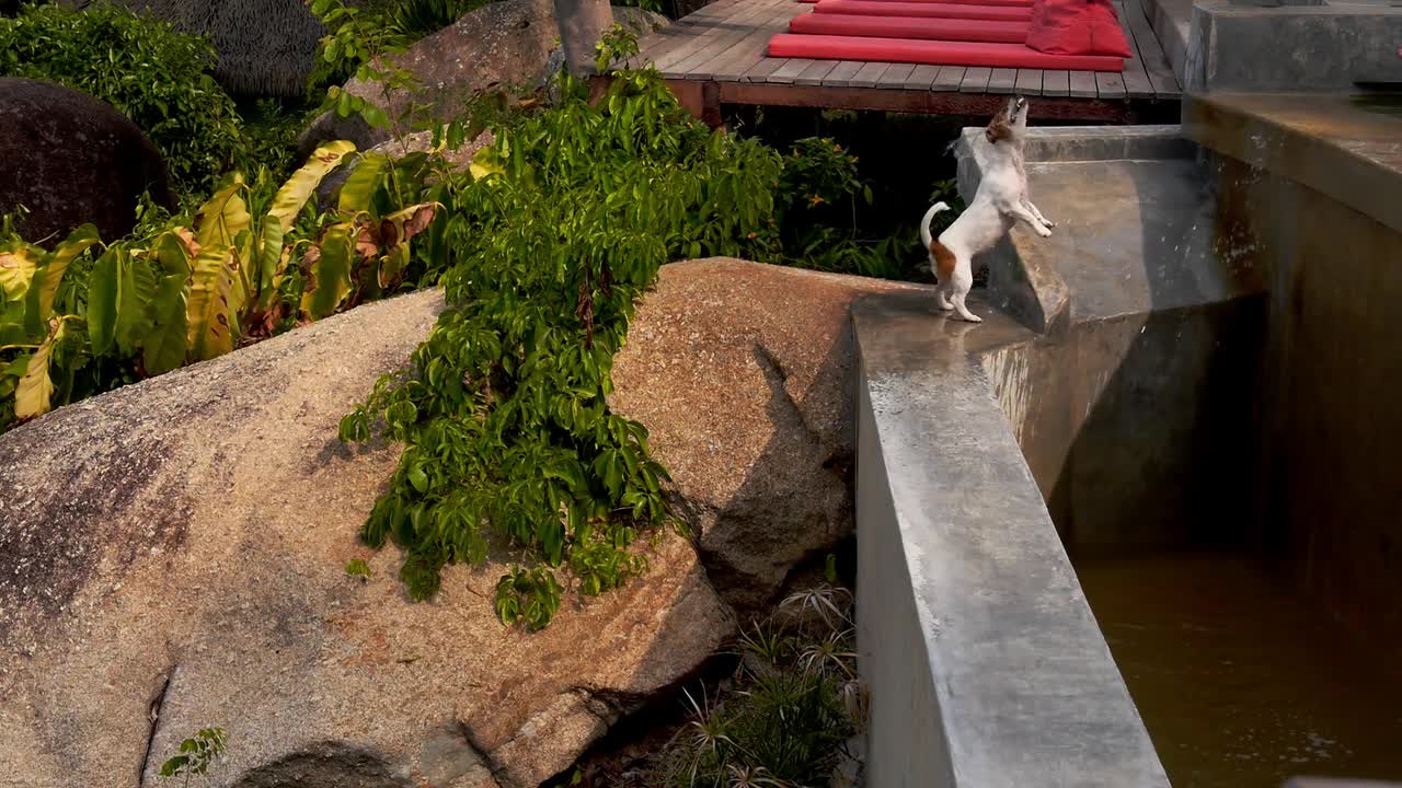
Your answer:
[[[1199,0],[1183,93],[1353,91],[1402,81],[1402,8]]]

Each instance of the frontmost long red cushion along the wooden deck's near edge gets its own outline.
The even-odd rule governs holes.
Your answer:
[[[823,0],[831,3],[834,0]],[[1101,55],[1046,55],[1021,43],[973,41],[917,41],[910,38],[861,38],[851,35],[796,35],[781,32],[770,39],[770,57],[815,60],[866,60],[876,63],[928,63],[931,66],[987,66],[993,69],[1052,69],[1071,72],[1123,72],[1123,57]]]

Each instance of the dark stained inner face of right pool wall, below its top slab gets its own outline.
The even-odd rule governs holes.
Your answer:
[[[1370,642],[1402,656],[1402,233],[1295,181],[1223,160],[1274,282],[1258,538]],[[1402,193],[1402,184],[1399,184]]]

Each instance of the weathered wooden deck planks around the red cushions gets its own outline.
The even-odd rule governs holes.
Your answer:
[[[768,57],[770,36],[812,8],[795,0],[718,0],[642,39],[638,62],[655,64],[714,125],[722,104],[991,115],[1012,93],[1037,98],[1033,119],[1178,121],[1178,80],[1140,0],[1116,0],[1134,50],[1119,74]]]

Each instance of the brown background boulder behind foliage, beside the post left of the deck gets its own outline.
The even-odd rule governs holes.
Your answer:
[[[638,35],[667,24],[666,17],[641,8],[614,8],[614,15]],[[552,0],[498,0],[394,59],[418,77],[418,90],[397,91],[386,98],[379,86],[360,80],[350,80],[345,90],[381,107],[391,118],[398,118],[412,101],[432,108],[423,121],[449,121],[481,91],[534,88],[558,69],[558,59],[551,59],[558,38]],[[325,112],[301,133],[299,146],[303,154],[310,154],[322,142],[343,139],[367,150],[388,137],[387,129],[372,129],[359,115],[339,118]]]

